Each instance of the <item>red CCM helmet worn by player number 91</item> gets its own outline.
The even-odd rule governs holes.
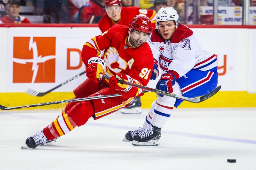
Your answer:
[[[136,15],[133,17],[132,21],[130,22],[130,27],[133,30],[146,32],[148,34],[151,34],[153,29],[150,19],[141,15]]]

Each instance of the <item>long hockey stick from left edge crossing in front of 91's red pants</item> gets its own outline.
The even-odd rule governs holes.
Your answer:
[[[148,91],[144,90],[141,93],[148,93]],[[103,98],[117,97],[117,96],[122,96],[122,95],[120,93],[116,93],[116,94],[113,94],[113,95],[92,96],[92,97],[60,100],[60,101],[46,102],[46,103],[37,103],[37,104],[31,104],[31,105],[25,105],[25,106],[16,106],[16,107],[6,107],[6,106],[2,106],[0,104],[0,109],[1,110],[23,109],[23,108],[29,108],[29,107],[45,106],[45,105],[60,104],[60,103],[70,103],[70,102],[80,102],[80,101],[84,101],[84,100],[103,99]]]

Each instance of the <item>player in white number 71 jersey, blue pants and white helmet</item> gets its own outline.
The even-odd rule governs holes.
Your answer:
[[[192,30],[179,24],[172,7],[161,8],[156,16],[156,29],[151,36],[151,49],[158,61],[161,78],[156,89],[186,97],[203,96],[217,87],[217,58],[203,51]],[[162,53],[161,53],[162,52]],[[182,100],[158,96],[152,103],[143,128],[128,131],[132,145],[159,145],[161,129]]]

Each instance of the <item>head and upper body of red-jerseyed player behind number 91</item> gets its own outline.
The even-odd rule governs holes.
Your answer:
[[[121,0],[105,0],[105,9],[107,14],[99,22],[102,32],[116,24],[129,26],[132,18],[138,14],[150,18],[153,29],[155,29],[156,11],[143,10],[135,6],[122,7]]]

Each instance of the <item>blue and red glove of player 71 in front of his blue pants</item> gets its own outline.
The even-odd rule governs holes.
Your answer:
[[[156,84],[156,89],[166,91],[169,93],[173,92],[172,86],[175,84],[176,77],[171,73],[164,73],[160,77],[160,80]],[[160,95],[160,94],[158,94]],[[164,95],[160,95],[163,97]]]

